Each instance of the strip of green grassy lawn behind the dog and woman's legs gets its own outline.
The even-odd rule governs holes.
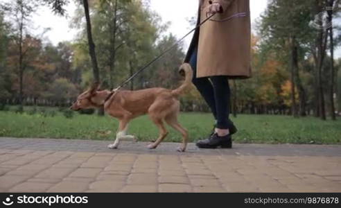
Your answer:
[[[51,109],[48,109],[49,111]],[[17,114],[0,111],[0,137],[39,137],[63,139],[112,140],[118,122],[109,116],[74,114],[67,119],[61,112],[55,116]],[[341,120],[320,121],[312,117],[293,119],[290,116],[238,115],[234,119],[238,143],[292,143],[292,144],[340,144]],[[180,123],[189,130],[191,141],[207,137],[212,128],[211,114],[182,113]],[[168,128],[166,141],[181,141],[180,134]],[[152,141],[158,132],[148,116],[141,116],[130,123],[128,132],[139,141]]]

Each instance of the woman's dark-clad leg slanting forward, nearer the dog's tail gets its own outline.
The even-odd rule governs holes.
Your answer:
[[[217,120],[217,111],[216,111],[216,101],[213,91],[212,83],[209,81],[209,78],[196,78],[197,76],[197,58],[198,58],[198,49],[195,49],[191,55],[191,59],[189,64],[193,69],[193,80],[192,83],[200,92],[201,96],[206,101],[207,105],[211,108],[214,118]]]

